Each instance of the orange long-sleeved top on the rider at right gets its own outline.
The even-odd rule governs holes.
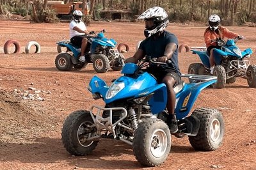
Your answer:
[[[226,27],[221,26],[219,27],[219,29],[222,34],[221,38],[236,38],[238,36],[237,33],[233,33],[232,31],[229,31]],[[211,40],[215,40],[216,38],[220,38],[220,35],[218,35],[215,31],[211,31],[211,29],[209,29],[209,31],[207,31],[204,34],[204,42],[205,42],[206,48],[208,48],[211,45],[216,45],[216,42],[211,42]]]

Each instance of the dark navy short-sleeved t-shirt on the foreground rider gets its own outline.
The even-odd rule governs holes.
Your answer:
[[[176,43],[179,47],[177,37],[168,31],[163,31],[163,33],[161,33],[161,35],[157,38],[154,38],[154,36],[150,36],[143,40],[140,43],[139,49],[143,50],[143,52],[145,52],[145,55],[151,56],[151,58],[159,58],[161,56],[164,56],[165,47],[168,43]],[[172,61],[172,63],[169,63],[168,66],[170,66],[170,68],[174,72],[180,75],[178,48],[175,50],[170,60]]]

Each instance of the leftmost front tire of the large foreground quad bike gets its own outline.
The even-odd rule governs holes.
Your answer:
[[[88,155],[96,148],[99,141],[87,141],[96,134],[89,111],[74,111],[65,120],[61,140],[66,150],[77,156]]]

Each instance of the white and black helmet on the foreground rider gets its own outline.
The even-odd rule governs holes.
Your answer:
[[[166,28],[169,23],[168,15],[166,11],[159,6],[154,6],[153,8],[149,8],[145,12],[141,13],[138,19],[154,20],[153,27],[145,27],[144,35],[146,37],[152,36],[158,33],[159,31],[163,31],[163,29]]]

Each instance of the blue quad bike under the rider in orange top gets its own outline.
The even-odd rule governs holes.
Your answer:
[[[236,42],[239,38],[228,39],[227,42],[221,38],[215,40],[220,49],[213,50],[214,67],[213,75],[218,77],[217,82],[212,84],[213,88],[225,88],[225,84],[236,82],[236,77],[247,79],[251,88],[256,87],[256,65],[250,65],[252,49],[248,48],[241,51]],[[193,54],[198,54],[202,63],[192,63],[189,65],[189,74],[211,75],[209,56],[205,50],[192,50]]]

